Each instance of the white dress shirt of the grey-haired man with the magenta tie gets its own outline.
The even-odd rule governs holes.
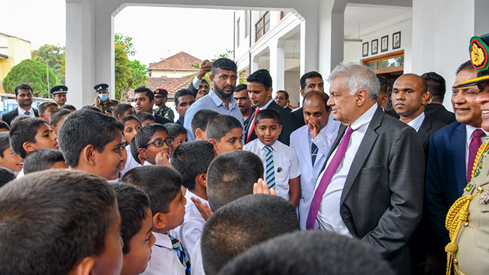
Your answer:
[[[351,133],[350,142],[346,148],[344,158],[340,163],[340,166],[338,166],[338,170],[333,175],[328,188],[326,188],[326,191],[323,194],[323,199],[321,200],[321,205],[319,205],[317,221],[321,230],[333,231],[340,235],[351,237],[351,234],[348,228],[346,228],[342,216],[340,215],[340,200],[346,176],[348,176],[351,168],[351,163],[353,163],[353,158],[355,158],[360,143],[367,132],[368,124],[370,124],[372,117],[374,117],[377,107],[377,103],[375,103],[369,110],[367,110],[367,112],[362,114],[350,125],[351,129],[353,129],[353,133]],[[328,158],[326,167],[328,167],[333,156],[335,156],[337,149],[338,148],[336,147],[333,154]],[[326,169],[319,175],[314,192],[316,192],[324,172],[326,172]]]

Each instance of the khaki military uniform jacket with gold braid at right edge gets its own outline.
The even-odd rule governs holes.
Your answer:
[[[457,244],[453,255],[455,274],[488,274],[489,272],[489,141],[482,144],[476,156],[472,180],[462,196],[472,195],[467,221],[460,225],[458,236],[452,235]],[[460,199],[459,199],[460,200]],[[455,204],[452,208],[455,208]],[[448,212],[447,219],[451,215]],[[449,229],[449,228],[447,228]]]

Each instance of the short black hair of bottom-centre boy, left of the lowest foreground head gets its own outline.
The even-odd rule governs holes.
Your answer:
[[[256,194],[229,202],[210,216],[202,230],[205,274],[217,274],[251,246],[295,230],[299,230],[297,212],[284,198]]]

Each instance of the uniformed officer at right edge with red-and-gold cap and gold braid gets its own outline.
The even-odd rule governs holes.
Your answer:
[[[477,85],[476,102],[481,105],[482,128],[489,131],[489,34],[470,40],[470,61],[477,77],[455,86]],[[446,245],[448,265],[446,274],[489,273],[489,140],[481,140],[476,154],[472,179],[462,197],[448,211],[446,229],[451,241]]]

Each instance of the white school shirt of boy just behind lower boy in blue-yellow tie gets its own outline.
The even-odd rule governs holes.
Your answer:
[[[191,198],[196,198],[207,205],[209,202],[192,193],[190,190],[187,190],[187,193],[185,193],[185,198],[187,199],[187,205],[185,205],[184,222],[179,227],[170,230],[170,235],[179,239],[183,244],[185,251],[190,252],[194,248],[197,239],[202,235],[202,230],[205,224],[204,218],[200,215],[200,212]],[[191,256],[189,256],[189,258],[192,260]]]

